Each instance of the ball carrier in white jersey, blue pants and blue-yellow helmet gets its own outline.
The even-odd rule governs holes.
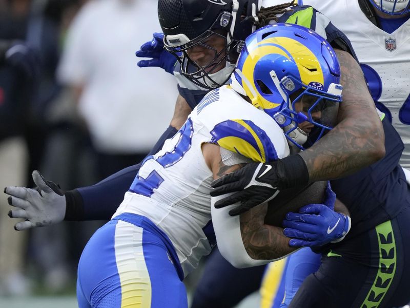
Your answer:
[[[295,251],[281,227],[264,223],[267,203],[231,217],[230,208],[211,206],[211,182],[244,163],[288,156],[295,119],[305,133],[330,129],[319,119],[341,101],[338,60],[318,34],[287,24],[256,31],[241,54],[232,84],[208,93],[145,159],[112,220],[86,245],[78,265],[80,308],[186,307],[182,279],[216,241],[238,267]],[[324,201],[330,200],[328,188]],[[345,236],[350,218],[322,206],[340,221],[333,239]]]

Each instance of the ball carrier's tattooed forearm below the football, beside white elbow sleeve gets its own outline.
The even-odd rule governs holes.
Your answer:
[[[240,215],[243,245],[248,255],[255,260],[273,260],[293,252],[289,238],[282,228],[263,223],[267,204],[261,204]]]

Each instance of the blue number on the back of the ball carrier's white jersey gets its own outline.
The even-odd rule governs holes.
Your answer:
[[[170,146],[171,149],[164,155],[157,157],[155,160],[164,168],[175,165],[191,148],[193,133],[194,129],[192,127],[192,121],[191,119],[188,119],[187,122],[172,138],[174,145]],[[151,159],[154,159],[153,156],[146,158],[144,163],[142,163],[142,166],[144,166],[144,164]],[[154,194],[154,189],[157,189],[162,182],[163,178],[158,174],[156,170],[152,170],[146,178],[142,178],[138,174],[131,184],[130,191],[142,196],[151,197],[152,194]]]

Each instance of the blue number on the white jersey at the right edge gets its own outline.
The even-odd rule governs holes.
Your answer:
[[[360,67],[362,68],[364,78],[366,79],[368,88],[370,89],[370,93],[372,94],[372,98],[375,101],[377,109],[384,112],[390,123],[392,123],[392,113],[386,106],[379,102],[383,90],[383,84],[379,74],[372,67],[366,64],[360,64]],[[403,124],[410,125],[410,94],[404,101],[403,106],[400,108],[399,120]]]

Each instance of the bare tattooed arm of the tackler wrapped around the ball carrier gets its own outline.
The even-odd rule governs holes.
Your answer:
[[[384,156],[383,126],[363,73],[350,54],[340,50],[336,53],[343,85],[338,124],[300,153],[312,182],[347,176]]]

